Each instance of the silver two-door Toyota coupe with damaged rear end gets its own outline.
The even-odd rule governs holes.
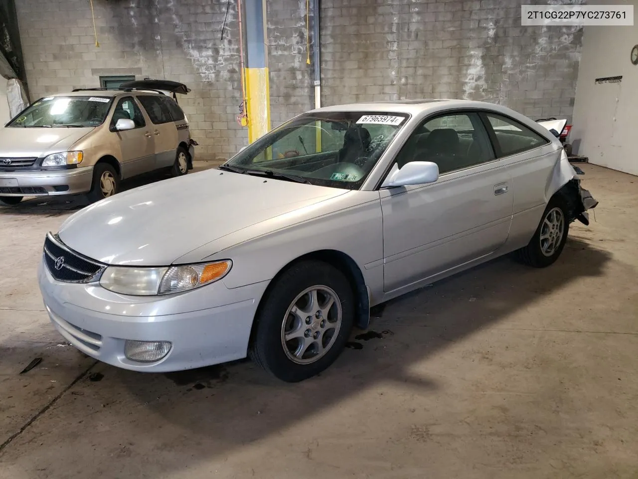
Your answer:
[[[373,305],[509,252],[556,261],[597,202],[555,135],[463,100],[313,110],[218,169],[72,215],[45,239],[41,293],[61,335],[111,365],[249,355],[300,381]]]

